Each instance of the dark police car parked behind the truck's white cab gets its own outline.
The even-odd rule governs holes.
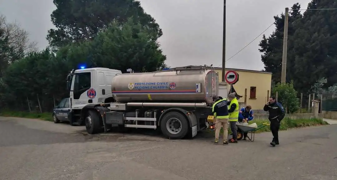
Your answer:
[[[69,98],[64,98],[53,110],[54,123],[69,121],[68,120],[69,112],[70,112]]]

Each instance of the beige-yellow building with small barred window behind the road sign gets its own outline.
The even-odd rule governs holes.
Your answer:
[[[222,68],[215,68],[215,70],[218,72],[221,82]],[[228,70],[234,70],[239,74],[238,82],[233,85],[237,94],[243,96],[239,99],[239,103],[246,102],[252,106],[253,110],[263,109],[270,96],[272,73],[230,68],[226,68],[225,72]],[[229,91],[231,85],[228,85],[227,89]]]

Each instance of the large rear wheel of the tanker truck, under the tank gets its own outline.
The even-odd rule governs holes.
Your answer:
[[[188,128],[188,120],[179,112],[169,112],[160,121],[161,132],[168,139],[183,139]]]

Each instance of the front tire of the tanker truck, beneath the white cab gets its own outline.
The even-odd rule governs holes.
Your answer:
[[[85,117],[85,126],[89,134],[96,134],[101,130],[100,124],[101,118],[98,113],[92,110],[89,110]]]

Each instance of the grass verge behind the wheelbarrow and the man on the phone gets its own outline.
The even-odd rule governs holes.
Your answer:
[[[262,124],[262,123],[270,123],[269,120],[253,120],[249,122],[249,124],[256,123],[257,125]],[[327,125],[328,123],[323,121],[323,119],[319,118],[311,118],[311,119],[290,119],[290,118],[284,118],[281,121],[280,125],[280,130],[288,130],[292,128],[299,128],[299,127],[309,127],[309,126],[318,126],[318,125]],[[210,130],[213,133],[215,132],[214,130]],[[255,133],[260,133],[260,132],[270,132],[270,126],[266,126],[264,128],[261,128]],[[221,128],[220,133],[223,133],[223,129]],[[228,127],[228,134],[231,134],[231,128]]]

